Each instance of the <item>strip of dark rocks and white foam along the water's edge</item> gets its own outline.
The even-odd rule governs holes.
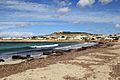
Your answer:
[[[86,50],[89,47],[99,46],[100,44],[91,42],[91,43],[86,43],[86,44],[74,44],[74,45],[69,45],[69,46],[54,47],[51,50],[39,52],[39,54],[37,54],[37,57],[38,56],[41,57],[44,55],[47,55],[47,56],[62,55],[64,52],[70,52],[71,50]],[[37,50],[39,50],[39,48]],[[32,50],[31,50],[31,52],[32,52]],[[36,58],[35,55],[19,54],[19,52],[16,52],[16,53],[17,54],[15,54],[15,55],[12,53],[13,55],[11,55],[11,57],[9,57],[9,59],[11,59],[11,61],[12,60],[31,60],[31,59]],[[20,53],[22,53],[22,52],[20,52]],[[8,60],[8,59],[4,59],[4,57],[0,58],[0,62],[6,62],[6,60]]]

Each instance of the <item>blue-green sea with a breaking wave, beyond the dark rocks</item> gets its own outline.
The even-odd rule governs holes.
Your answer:
[[[0,58],[12,55],[37,55],[55,47],[83,44],[82,42],[0,42]]]

